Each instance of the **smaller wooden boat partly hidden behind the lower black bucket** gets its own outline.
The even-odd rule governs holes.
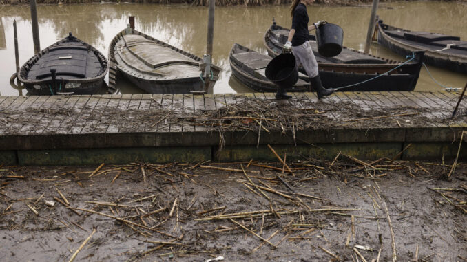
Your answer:
[[[271,56],[260,54],[238,43],[234,44],[229,54],[232,75],[247,87],[258,92],[275,92],[278,89],[265,75],[266,66],[271,60]],[[304,74],[301,76],[307,77]],[[298,82],[287,91],[309,91],[309,87],[309,83],[298,79]]]

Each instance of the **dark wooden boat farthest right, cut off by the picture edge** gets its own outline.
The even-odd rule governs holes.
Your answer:
[[[378,20],[377,43],[403,56],[423,50],[426,64],[467,73],[467,41],[459,36],[409,31]]]

